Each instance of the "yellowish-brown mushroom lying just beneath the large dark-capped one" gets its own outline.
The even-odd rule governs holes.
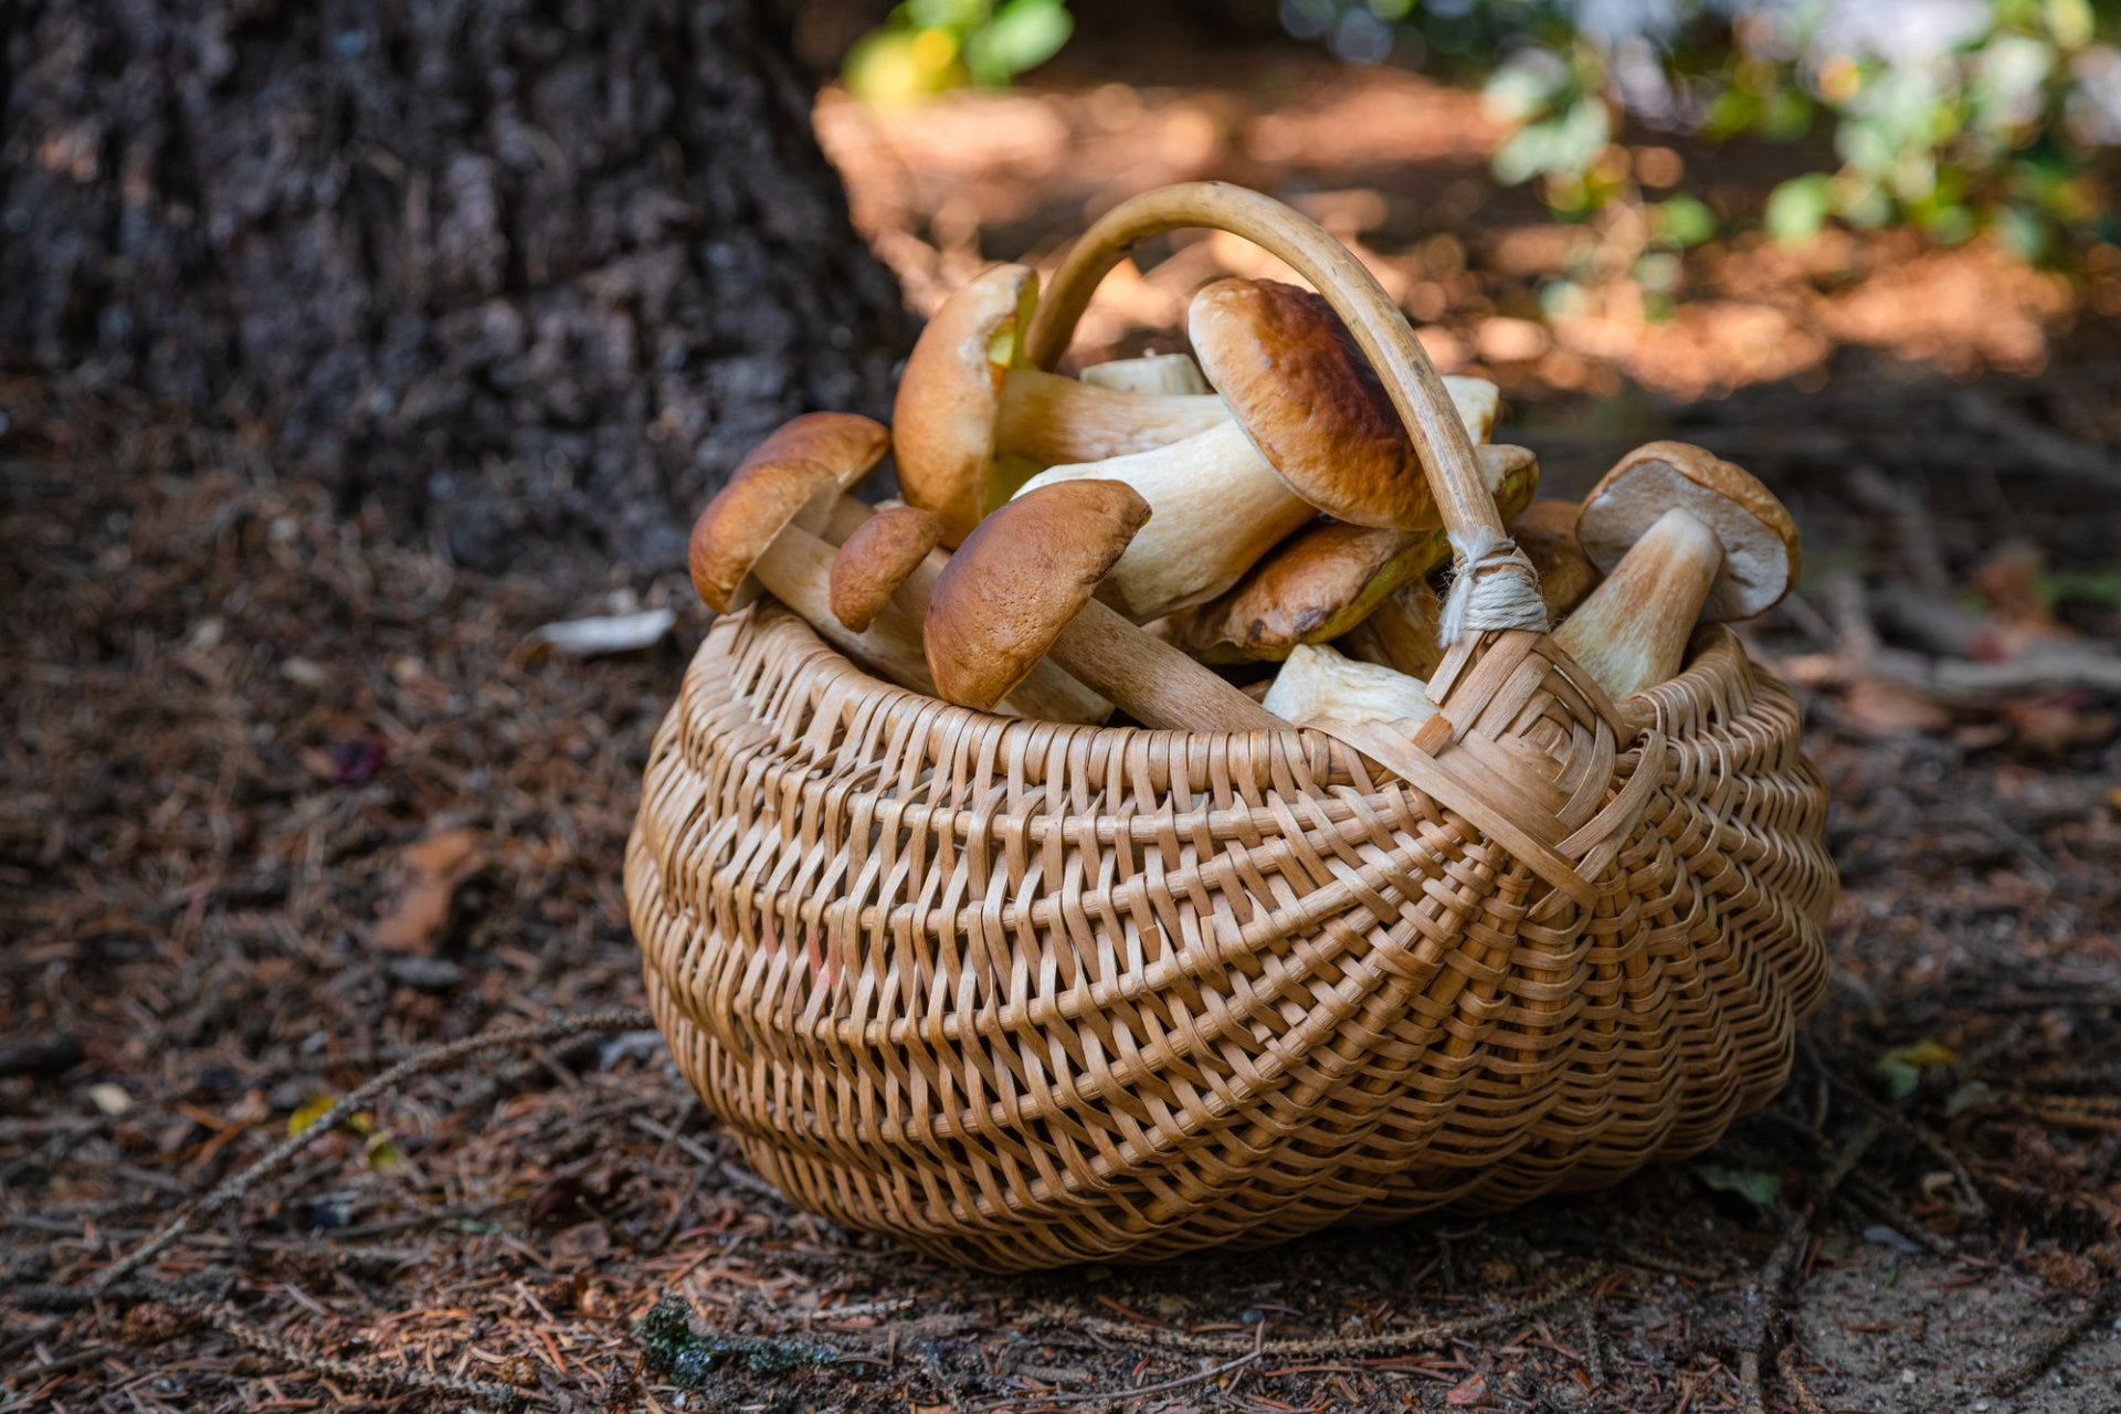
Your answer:
[[[1531,500],[1540,481],[1531,452],[1480,445],[1474,456],[1504,517]],[[1186,647],[1224,664],[1287,657],[1298,642],[1328,642],[1349,632],[1393,589],[1449,560],[1451,543],[1440,526],[1377,530],[1317,522],[1266,551],[1237,587],[1205,604]]]

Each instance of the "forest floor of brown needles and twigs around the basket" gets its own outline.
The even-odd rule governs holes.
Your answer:
[[[1843,899],[1769,1109],[1506,1217],[986,1278],[787,1208],[653,1032],[556,1039],[409,1081],[87,1302],[62,1287],[418,1047],[641,1003],[617,861],[706,613],[452,568],[242,428],[15,379],[0,1410],[2121,1410],[2110,280],[1733,244],[1650,307],[1618,218],[1495,191],[1476,121],[1302,66],[821,106],[916,301],[1050,254],[1092,189],[1237,176],[1396,271],[1548,490],[1676,435],[1788,500],[1807,577],[1752,640],[1803,697]],[[1090,341],[1245,259],[1171,248]],[[532,642],[660,606],[643,651]],[[719,1340],[691,1389],[643,1363],[666,1291]]]

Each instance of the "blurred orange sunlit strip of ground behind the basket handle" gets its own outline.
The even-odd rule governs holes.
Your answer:
[[[1544,220],[1487,176],[1497,127],[1476,95],[1396,70],[1254,70],[1228,87],[963,91],[910,108],[827,89],[817,129],[855,225],[923,316],[997,259],[1050,276],[1069,231],[1177,180],[1285,197],[1362,259],[1438,365],[1491,371],[1517,396],[1608,396],[1633,379],[1701,399],[1822,377],[1843,346],[1953,375],[2028,373],[2079,299],[2121,312],[2121,259],[2091,261],[2079,293],[1989,240],[1939,248],[1830,227],[1805,244],[1752,231],[1703,242],[1673,235],[1671,204],[1629,201],[1580,225]],[[1743,153],[1686,167],[1665,157],[1673,176],[1714,176],[1718,206],[1748,206]],[[1177,233],[1137,261],[1084,316],[1084,360],[1181,348],[1186,301],[1211,280],[1292,280],[1226,233]]]

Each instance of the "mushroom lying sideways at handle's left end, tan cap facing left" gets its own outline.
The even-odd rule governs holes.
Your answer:
[[[906,360],[899,485],[942,519],[944,545],[1037,466],[1158,447],[1230,418],[1213,394],[1114,392],[1029,367],[1020,346],[1037,290],[1027,265],[988,269],[944,301]]]

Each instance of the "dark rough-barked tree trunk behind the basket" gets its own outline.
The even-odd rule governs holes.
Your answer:
[[[0,0],[0,346],[479,568],[670,568],[912,337],[772,4]]]

